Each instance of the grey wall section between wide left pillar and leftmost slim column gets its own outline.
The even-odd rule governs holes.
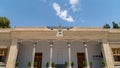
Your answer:
[[[23,43],[19,45],[18,58],[19,68],[27,68],[27,63],[32,62],[32,44]]]

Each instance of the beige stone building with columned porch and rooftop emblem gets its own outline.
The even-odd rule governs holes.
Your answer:
[[[82,68],[83,61],[93,62],[94,68],[120,68],[120,29],[80,27],[16,27],[0,29],[0,64],[6,68],[27,68],[37,62],[38,68],[46,63],[64,65],[74,62]],[[49,66],[49,68],[51,65]]]

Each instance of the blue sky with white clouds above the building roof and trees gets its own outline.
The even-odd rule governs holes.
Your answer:
[[[11,26],[102,27],[120,22],[120,0],[0,0]]]

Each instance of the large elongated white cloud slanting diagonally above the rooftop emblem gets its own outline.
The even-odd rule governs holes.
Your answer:
[[[53,8],[56,11],[56,15],[59,16],[61,19],[68,22],[74,22],[73,17],[68,15],[68,11],[61,10],[61,7],[58,3],[53,3]]]

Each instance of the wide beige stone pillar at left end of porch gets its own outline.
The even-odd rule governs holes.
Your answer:
[[[18,40],[16,38],[13,38],[11,41],[10,49],[9,49],[6,68],[15,68],[15,63],[16,63],[17,53],[18,53],[17,44],[18,44]]]

